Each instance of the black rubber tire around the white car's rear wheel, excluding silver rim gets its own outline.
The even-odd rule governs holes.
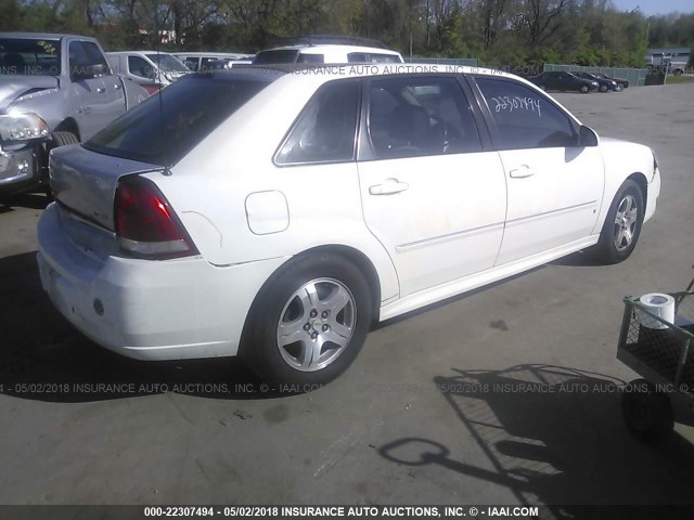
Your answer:
[[[290,297],[316,278],[333,278],[349,289],[357,308],[357,322],[347,348],[334,362],[317,372],[301,372],[282,358],[277,344],[277,327]],[[323,385],[345,372],[361,350],[371,327],[371,290],[361,271],[344,257],[333,253],[299,257],[281,268],[262,287],[249,318],[250,334],[244,341],[242,355],[262,379],[299,386]]]

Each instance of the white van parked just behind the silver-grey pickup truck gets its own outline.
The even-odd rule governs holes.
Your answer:
[[[190,70],[177,57],[159,51],[107,52],[114,72],[143,87],[150,94]]]

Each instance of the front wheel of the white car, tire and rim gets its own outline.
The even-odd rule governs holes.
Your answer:
[[[605,264],[619,263],[631,255],[643,224],[644,204],[639,184],[627,179],[609,206],[600,239],[593,250]]]

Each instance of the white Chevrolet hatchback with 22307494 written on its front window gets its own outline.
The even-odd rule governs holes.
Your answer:
[[[50,177],[41,282],[79,330],[293,384],[377,321],[579,249],[625,260],[660,191],[651,148],[523,79],[408,65],[190,75]]]

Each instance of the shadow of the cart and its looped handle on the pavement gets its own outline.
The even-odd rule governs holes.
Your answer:
[[[437,465],[503,486],[520,505],[550,506],[553,518],[606,518],[587,505],[694,504],[694,446],[678,433],[656,447],[633,439],[620,413],[624,381],[532,364],[452,372],[434,381],[461,421],[461,439],[472,439],[468,456],[404,435],[378,448],[403,471]]]

